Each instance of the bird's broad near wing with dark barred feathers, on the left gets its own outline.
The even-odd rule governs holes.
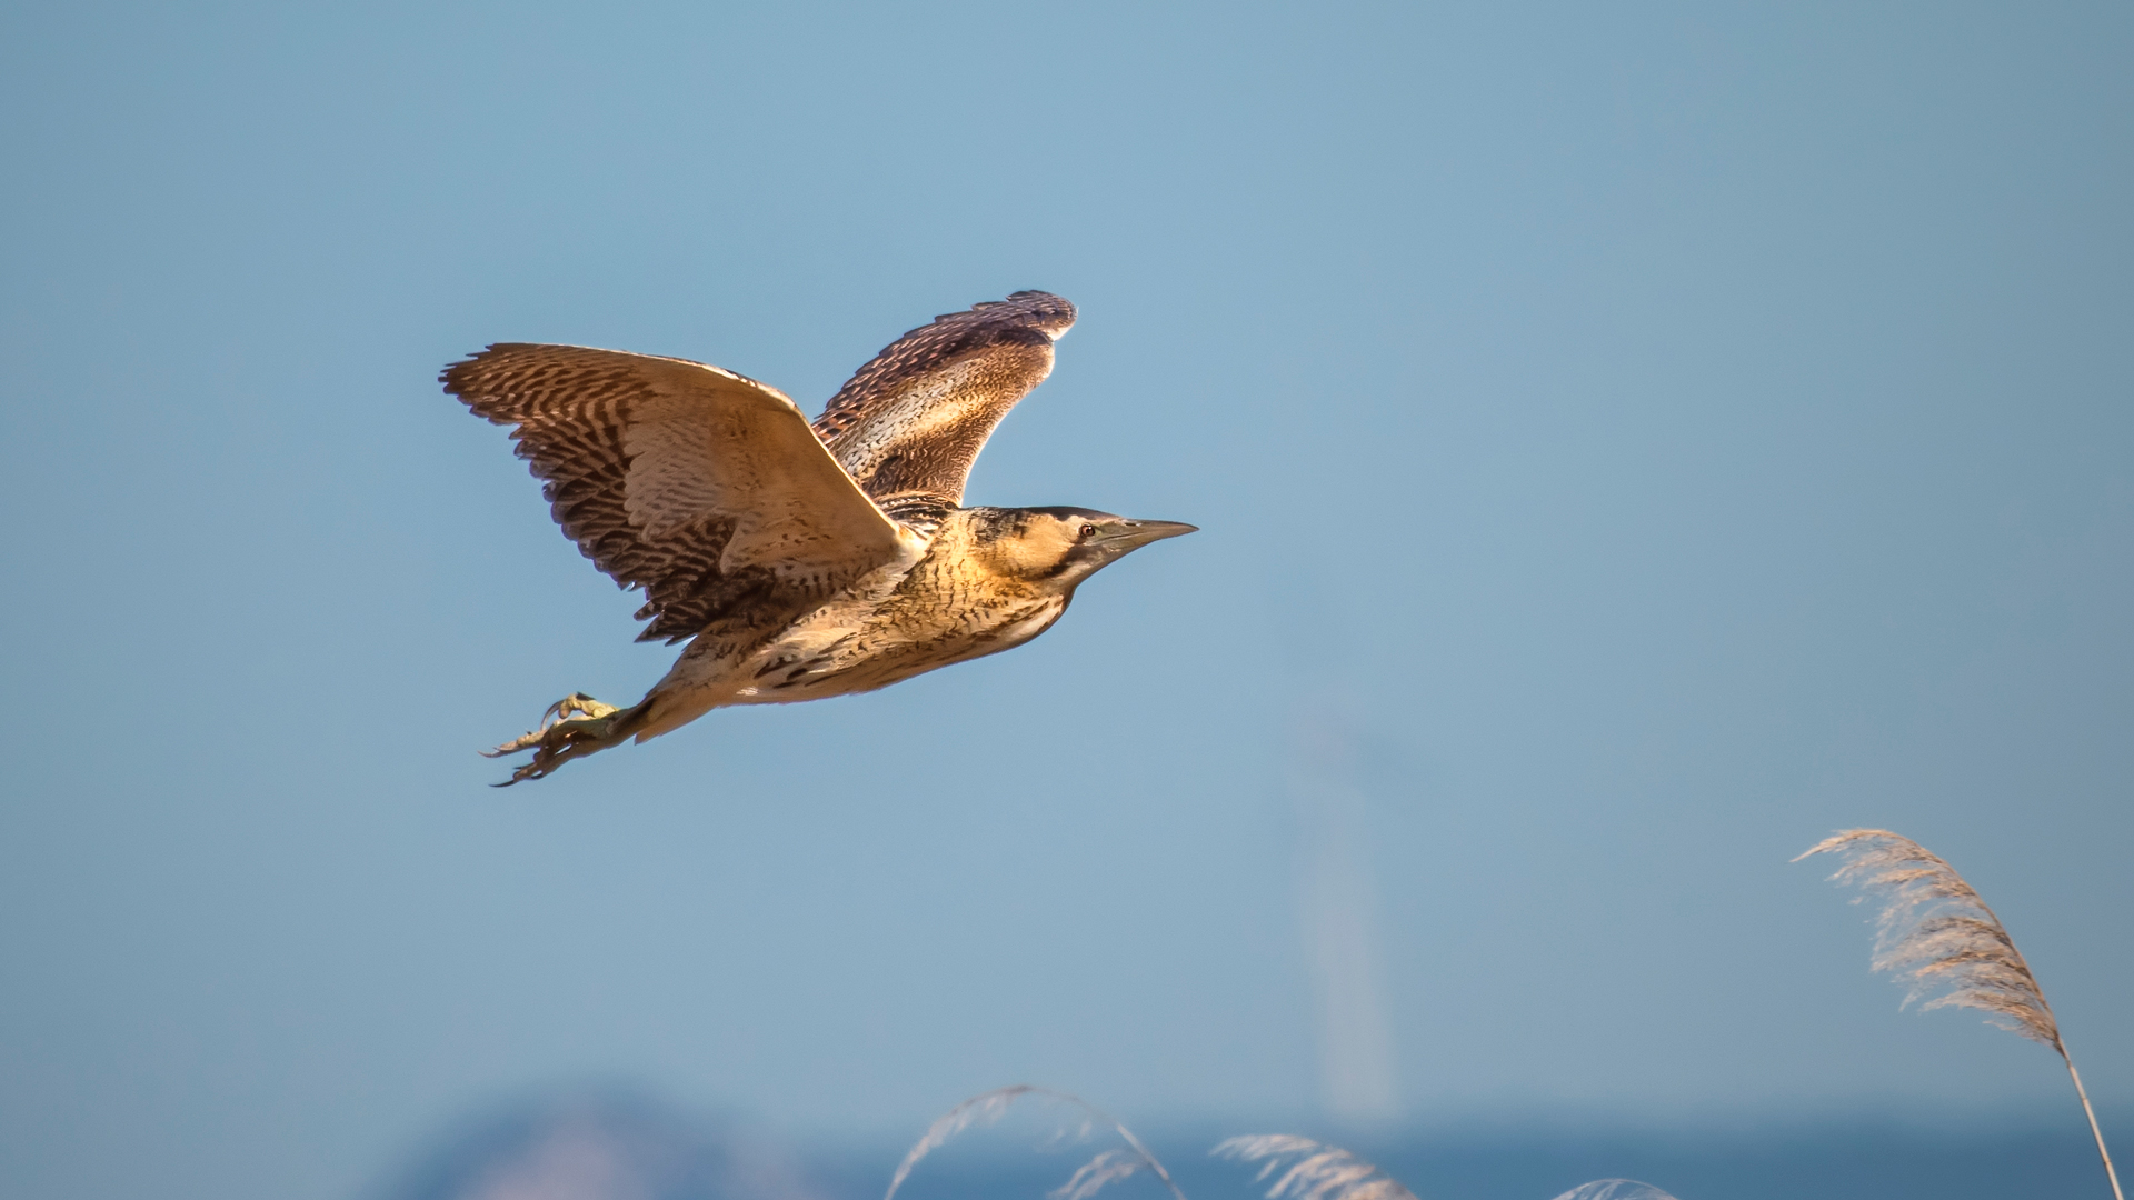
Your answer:
[[[542,480],[563,534],[644,589],[638,641],[740,606],[826,598],[913,534],[837,465],[794,401],[687,359],[497,344],[440,376]]]

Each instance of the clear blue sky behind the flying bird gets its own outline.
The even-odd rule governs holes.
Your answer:
[[[1325,1121],[1323,726],[1400,1121],[2066,1104],[1786,867],[1857,824],[2134,1110],[2130,51],[2111,4],[0,15],[9,1191],[348,1196],[576,1078]],[[1082,322],[971,498],[1201,534],[1016,653],[484,788],[670,651],[440,365],[815,408],[1016,288]]]

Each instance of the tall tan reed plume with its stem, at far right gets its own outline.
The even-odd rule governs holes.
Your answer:
[[[1886,828],[1835,833],[1795,856],[1795,863],[1810,854],[1837,854],[1844,860],[1831,880],[1861,886],[1863,895],[1852,903],[1867,895],[1882,899],[1869,961],[1874,969],[1891,972],[1906,982],[1904,1004],[1929,997],[1921,1010],[1976,1008],[1987,1014],[1987,1023],[2047,1044],[2059,1055],[2068,1065],[2068,1078],[2074,1080],[2074,1095],[2083,1102],[2083,1115],[2089,1117],[2089,1134],[2098,1140],[2098,1157],[2104,1159],[2113,1196],[2125,1200],[2113,1155],[2104,1149],[2104,1130],[2098,1127],[2098,1112],[2089,1106],[2089,1091],[2074,1070],[2068,1042],[2059,1036],[2053,1006],[2044,1001],[2038,976],[1987,901],[1978,899],[1940,854]]]

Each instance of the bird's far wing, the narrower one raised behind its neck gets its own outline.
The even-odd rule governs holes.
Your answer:
[[[1052,374],[1052,342],[1073,316],[1050,293],[937,316],[860,367],[815,419],[815,433],[886,512],[962,504],[977,451]]]

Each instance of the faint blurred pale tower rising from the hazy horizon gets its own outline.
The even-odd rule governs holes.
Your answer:
[[[1385,1014],[1379,888],[1366,852],[1355,739],[1327,713],[1297,720],[1289,760],[1302,858],[1297,916],[1319,1019],[1319,1087],[1327,1115],[1353,1123],[1400,1117]]]

